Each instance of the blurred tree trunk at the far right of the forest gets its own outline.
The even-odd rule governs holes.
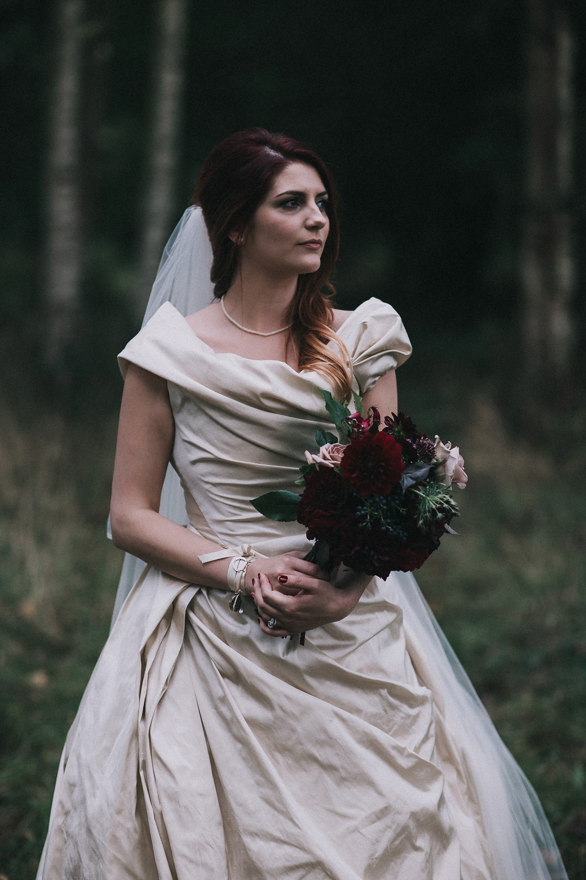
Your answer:
[[[574,41],[567,13],[552,0],[528,0],[528,12],[525,378],[532,392],[542,396],[564,392],[570,378]]]

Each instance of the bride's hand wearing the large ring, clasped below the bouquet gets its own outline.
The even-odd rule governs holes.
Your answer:
[[[274,557],[275,561],[283,558]],[[311,563],[305,562],[304,565]],[[271,579],[262,571],[259,572],[258,568],[259,566],[255,568],[251,595],[260,615],[260,627],[267,635],[303,633],[336,620],[343,620],[357,605],[371,580],[369,575],[358,575],[341,566],[335,580],[339,586],[336,587],[325,579],[326,576],[317,566],[313,566],[316,569],[315,575],[318,576],[293,576],[294,586],[285,592],[284,588],[289,586],[289,576],[287,583],[278,581],[273,586]],[[278,625],[270,629],[267,623],[273,617],[278,620]]]

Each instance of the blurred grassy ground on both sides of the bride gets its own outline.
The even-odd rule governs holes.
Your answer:
[[[419,581],[537,788],[571,880],[586,880],[586,442],[579,424],[569,440],[513,440],[480,382],[405,378],[403,407],[459,443],[470,478],[453,523],[462,537],[444,539]],[[114,432],[110,416],[24,420],[0,406],[7,880],[35,874],[63,740],[108,633],[121,564],[105,539]]]

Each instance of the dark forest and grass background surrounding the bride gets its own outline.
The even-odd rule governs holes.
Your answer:
[[[553,0],[0,3],[0,880],[35,875],[108,634],[121,379],[214,143],[318,150],[338,302],[414,342],[402,409],[459,443],[423,590],[586,878],[586,8]]]

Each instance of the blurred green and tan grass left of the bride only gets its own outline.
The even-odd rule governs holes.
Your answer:
[[[33,880],[61,749],[108,634],[116,420],[0,401],[0,874]]]

